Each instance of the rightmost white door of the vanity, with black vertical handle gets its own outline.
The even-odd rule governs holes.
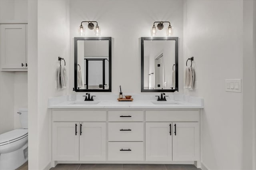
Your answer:
[[[199,124],[172,123],[172,160],[199,160]]]

